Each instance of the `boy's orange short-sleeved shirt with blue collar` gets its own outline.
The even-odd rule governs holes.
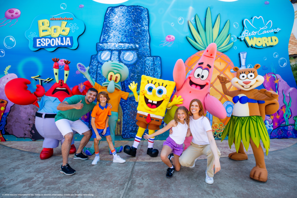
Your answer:
[[[105,129],[105,121],[107,116],[111,115],[111,110],[110,108],[107,106],[107,104],[105,105],[105,107],[102,107],[99,104],[96,104],[96,106],[94,107],[91,117],[95,118],[95,125],[97,129]],[[108,124],[107,124],[108,127]]]

